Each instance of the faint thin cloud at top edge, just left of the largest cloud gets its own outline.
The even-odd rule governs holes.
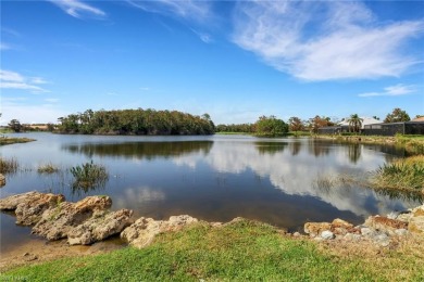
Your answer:
[[[204,22],[212,16],[211,2],[196,0],[127,0],[133,7],[145,10],[146,12],[159,13],[163,15],[179,16],[186,20]]]

